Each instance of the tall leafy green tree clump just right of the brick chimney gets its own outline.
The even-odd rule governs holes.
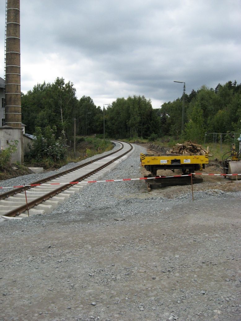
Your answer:
[[[72,133],[72,116],[76,109],[76,90],[73,83],[57,78],[52,84],[43,82],[22,94],[22,121],[29,134],[35,127],[56,126],[58,135],[64,130]]]

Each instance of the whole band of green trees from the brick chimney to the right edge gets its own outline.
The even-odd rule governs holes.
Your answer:
[[[152,108],[145,96],[117,98],[106,108],[96,107],[89,96],[76,97],[72,82],[57,78],[52,84],[37,84],[22,94],[22,122],[29,134],[35,128],[55,126],[58,136],[71,140],[76,135],[113,139],[172,136],[179,138],[182,128],[183,96]],[[184,137],[200,141],[205,132],[241,132],[241,84],[220,83],[215,89],[202,86],[184,96]]]

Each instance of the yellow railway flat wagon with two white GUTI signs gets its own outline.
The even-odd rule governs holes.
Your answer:
[[[208,164],[208,153],[205,155],[178,155],[178,154],[140,154],[141,165],[156,177],[158,169],[181,169],[183,174],[193,173],[195,170],[205,168]]]

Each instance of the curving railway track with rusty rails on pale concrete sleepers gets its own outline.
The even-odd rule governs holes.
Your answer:
[[[115,152],[0,194],[0,216],[23,218],[51,213],[59,204],[85,188],[88,181],[103,178],[133,150],[130,143],[112,142],[120,145]]]

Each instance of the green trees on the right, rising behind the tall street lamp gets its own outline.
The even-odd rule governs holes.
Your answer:
[[[241,84],[220,83],[215,89],[202,86],[185,94],[184,136],[200,141],[205,132],[241,133]],[[181,133],[183,96],[164,103],[159,110],[162,118],[162,135],[178,136]]]

